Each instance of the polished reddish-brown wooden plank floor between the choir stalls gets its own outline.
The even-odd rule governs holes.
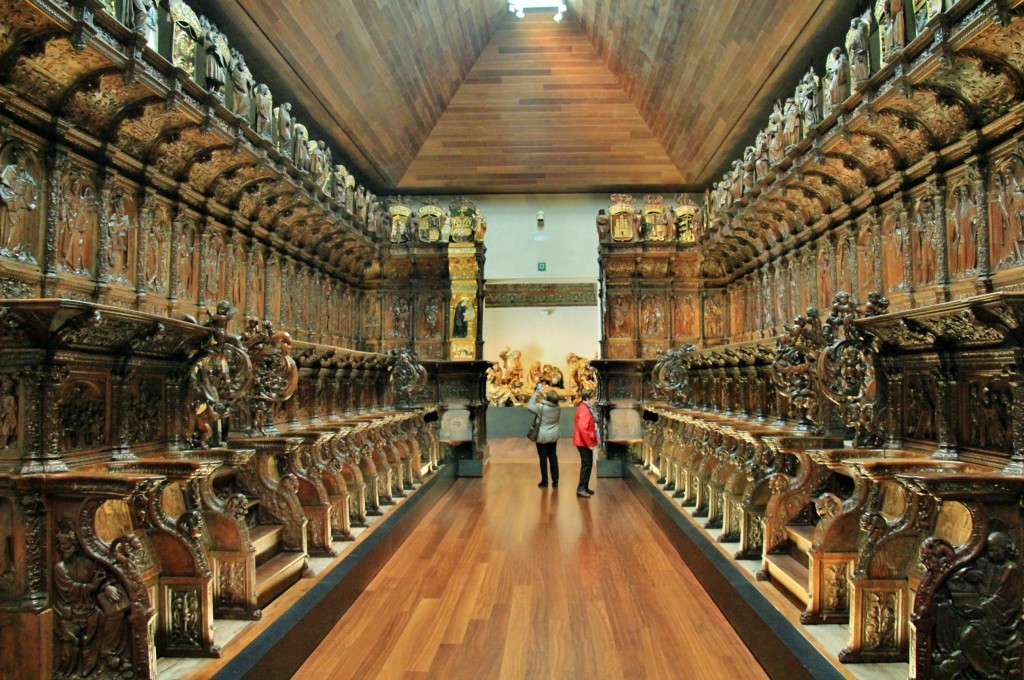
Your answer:
[[[296,678],[767,677],[626,483],[492,440]],[[596,483],[596,485],[595,485]]]

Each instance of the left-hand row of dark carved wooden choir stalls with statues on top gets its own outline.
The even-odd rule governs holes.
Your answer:
[[[3,0],[0,52],[0,676],[152,678],[484,407],[483,217],[390,238],[181,0]]]

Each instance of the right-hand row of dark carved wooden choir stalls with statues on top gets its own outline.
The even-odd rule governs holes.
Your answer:
[[[612,451],[913,678],[1024,673],[1022,37],[871,3],[702,200],[597,217]]]

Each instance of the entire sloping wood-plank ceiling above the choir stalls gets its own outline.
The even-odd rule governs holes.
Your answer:
[[[849,0],[208,0],[378,193],[699,189],[841,44]]]

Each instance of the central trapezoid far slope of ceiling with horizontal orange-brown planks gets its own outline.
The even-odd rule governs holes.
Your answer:
[[[681,182],[580,28],[531,12],[502,23],[398,188],[534,194]]]

